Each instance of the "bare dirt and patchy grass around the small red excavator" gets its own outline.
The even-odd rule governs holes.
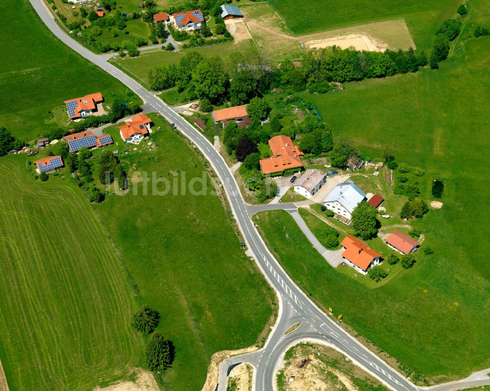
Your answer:
[[[306,358],[311,362],[298,368],[300,360]],[[366,389],[380,386],[380,390],[386,390],[378,380],[346,360],[342,353],[327,346],[296,345],[288,350],[285,359],[283,376],[278,381],[283,382],[283,389],[287,391],[357,391],[355,384],[360,382],[365,383]]]

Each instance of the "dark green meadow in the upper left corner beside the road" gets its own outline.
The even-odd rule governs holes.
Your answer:
[[[68,115],[54,120],[53,109],[64,100],[102,92],[110,104],[125,96],[122,83],[55,40],[27,0],[1,1],[0,12],[0,125],[12,134],[31,140],[60,126]]]

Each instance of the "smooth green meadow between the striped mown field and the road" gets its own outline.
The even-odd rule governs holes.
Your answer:
[[[147,172],[151,177],[155,172],[157,178],[167,178],[172,183],[169,194],[151,195],[150,182],[150,194],[143,195],[141,183],[131,184],[129,194],[108,197],[96,211],[141,298],[161,312],[158,330],[175,344],[173,367],[160,379],[162,390],[197,391],[214,352],[256,343],[270,320],[274,297],[255,264],[240,250],[243,239],[230,227],[231,213],[223,210],[220,198],[192,195],[187,187],[204,173],[211,190],[208,163],[203,166],[195,150],[167,122],[152,118],[154,129],[161,127],[151,135],[158,146],[123,155],[121,161],[130,173]],[[176,187],[173,178],[178,180]],[[173,195],[174,189],[178,195]]]

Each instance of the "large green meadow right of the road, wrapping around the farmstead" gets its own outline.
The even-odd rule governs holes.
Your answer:
[[[261,216],[270,245],[280,249],[282,264],[306,292],[324,306],[338,307],[359,334],[430,377],[465,376],[490,366],[484,337],[490,322],[490,268],[481,261],[490,234],[489,167],[481,163],[489,158],[489,138],[482,131],[490,124],[489,47],[490,37],[466,41],[437,71],[422,69],[346,84],[340,93],[305,95],[334,135],[353,138],[364,157],[377,160],[386,148],[398,162],[424,168],[420,189],[425,200],[432,199],[432,181],[444,181],[442,209],[409,222],[422,230],[432,256],[417,252],[412,270],[371,290],[327,267],[287,215]],[[284,230],[294,243],[279,240]],[[292,257],[291,247],[295,253],[304,251],[302,258],[309,262]],[[318,276],[325,284],[316,284]]]

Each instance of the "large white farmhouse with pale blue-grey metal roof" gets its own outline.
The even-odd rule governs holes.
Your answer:
[[[356,184],[345,182],[333,188],[323,201],[323,205],[332,212],[351,220],[352,211],[364,200],[366,194]]]

